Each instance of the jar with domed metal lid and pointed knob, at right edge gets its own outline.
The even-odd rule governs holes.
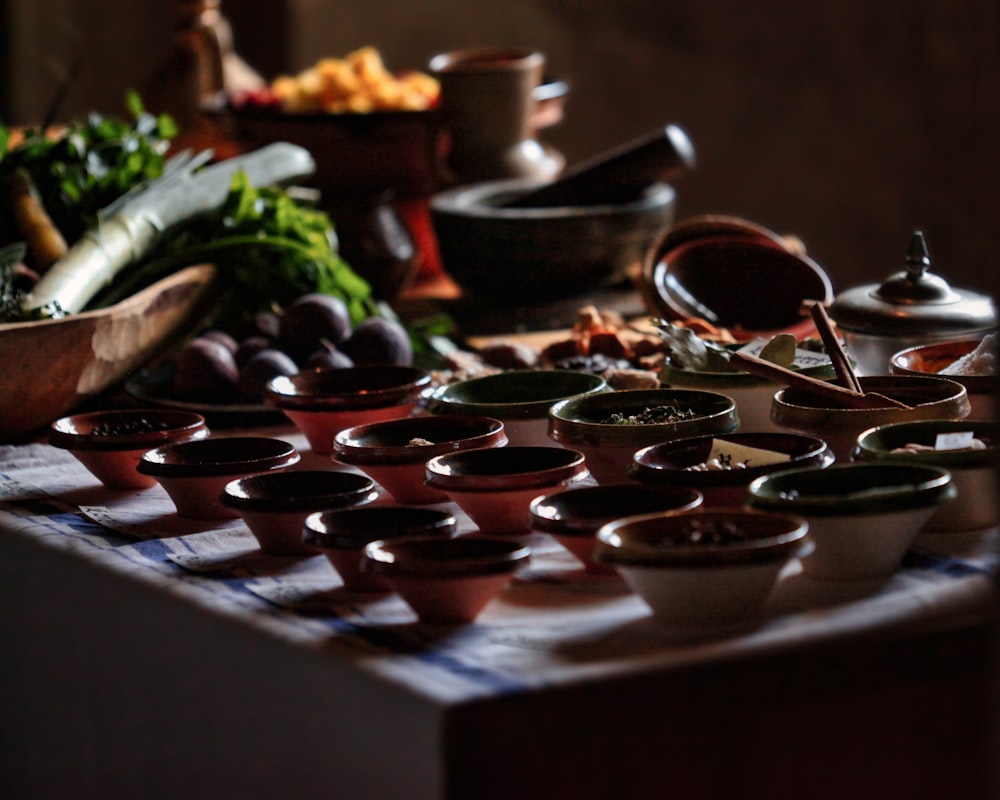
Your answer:
[[[992,299],[952,288],[929,271],[922,231],[914,231],[905,269],[881,285],[864,285],[838,295],[830,316],[844,334],[861,375],[887,375],[895,353],[907,347],[968,337],[996,327]]]

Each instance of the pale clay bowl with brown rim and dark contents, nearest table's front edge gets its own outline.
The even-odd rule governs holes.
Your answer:
[[[747,509],[641,514],[602,526],[594,557],[621,573],[668,635],[712,637],[760,624],[807,530],[797,516]]]

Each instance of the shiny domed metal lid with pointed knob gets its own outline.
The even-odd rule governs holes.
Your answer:
[[[930,265],[924,233],[916,230],[903,271],[838,295],[830,316],[845,331],[874,336],[962,335],[996,326],[989,296],[952,288]]]

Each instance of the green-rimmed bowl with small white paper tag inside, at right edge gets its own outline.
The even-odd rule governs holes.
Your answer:
[[[944,436],[955,441],[958,437],[964,442],[970,434],[985,445],[984,449],[952,449],[946,440],[939,439]],[[992,420],[898,422],[862,433],[852,458],[859,462],[932,464],[947,469],[958,494],[934,512],[921,532],[985,530],[1000,523],[995,437],[996,423]]]

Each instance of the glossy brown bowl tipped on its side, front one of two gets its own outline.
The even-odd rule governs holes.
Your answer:
[[[668,319],[699,317],[728,328],[738,341],[777,333],[803,339],[816,327],[802,304],[833,300],[819,264],[763,236],[668,238],[647,259],[651,294]]]

